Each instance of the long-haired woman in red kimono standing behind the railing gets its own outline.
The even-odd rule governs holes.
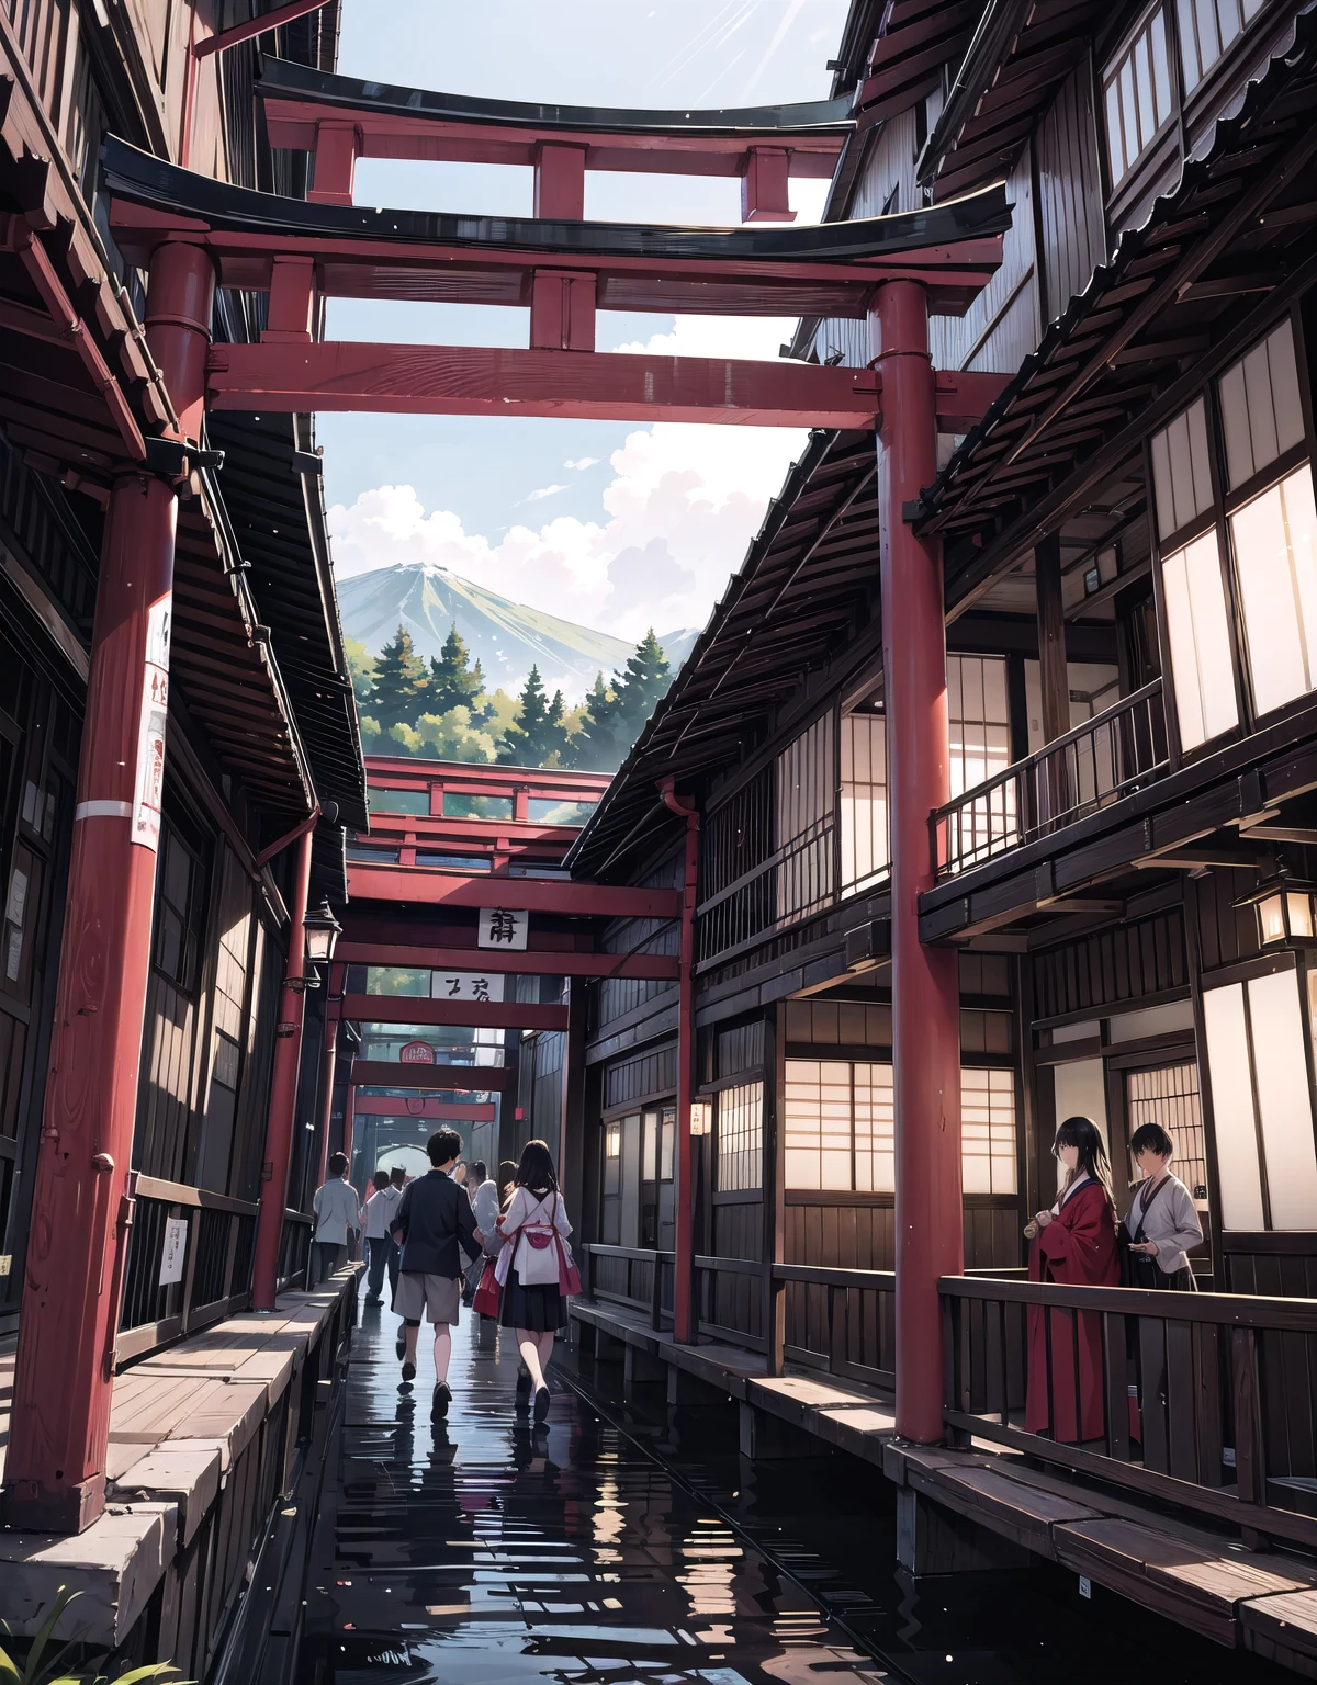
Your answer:
[[[1116,1210],[1103,1137],[1088,1117],[1067,1117],[1056,1132],[1052,1153],[1067,1174],[1052,1210],[1039,1212],[1029,1225],[1034,1230],[1029,1279],[1064,1282],[1067,1287],[1118,1287]],[[1062,1444],[1081,1444],[1101,1439],[1105,1422],[1101,1318],[1096,1311],[1079,1311],[1078,1316],[1062,1309],[1044,1313],[1042,1306],[1030,1304],[1025,1429],[1030,1434],[1051,1432]]]

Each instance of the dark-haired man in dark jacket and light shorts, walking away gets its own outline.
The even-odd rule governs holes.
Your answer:
[[[457,1321],[462,1292],[457,1249],[460,1244],[467,1257],[479,1257],[484,1237],[476,1227],[470,1200],[450,1176],[462,1156],[462,1137],[452,1129],[437,1129],[427,1141],[425,1151],[430,1171],[406,1185],[393,1227],[393,1238],[401,1247],[393,1309],[403,1318],[405,1382],[417,1378],[422,1316],[430,1318],[435,1331],[435,1392],[430,1400],[430,1420],[442,1422],[452,1402],[450,1328]]]

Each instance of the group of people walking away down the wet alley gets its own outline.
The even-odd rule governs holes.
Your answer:
[[[521,1353],[518,1407],[533,1412],[535,1426],[548,1419],[545,1380],[553,1341],[563,1326],[560,1259],[570,1262],[572,1225],[558,1191],[553,1158],[543,1141],[529,1141],[519,1163],[504,1159],[499,1181],[476,1161],[460,1164],[462,1137],[438,1129],[427,1142],[430,1169],[408,1178],[405,1171],[376,1171],[374,1191],[357,1206],[347,1185],[347,1159],[329,1159],[329,1181],[315,1193],[315,1277],[332,1274],[347,1259],[347,1230],[366,1240],[366,1304],[383,1304],[384,1274],[393,1309],[401,1318],[398,1358],[403,1385],[417,1375],[420,1324],[433,1328],[435,1388],[430,1419],[443,1420],[452,1402],[449,1363],[459,1306],[486,1264],[497,1269],[501,1294],[497,1321],[511,1328]],[[464,1267],[460,1252],[467,1254]],[[506,1257],[504,1257],[506,1254]],[[467,1291],[464,1292],[464,1286]]]

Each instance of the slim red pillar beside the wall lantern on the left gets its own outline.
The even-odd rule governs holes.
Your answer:
[[[275,1309],[278,1284],[278,1247],[283,1238],[283,1210],[288,1196],[288,1163],[293,1151],[297,1110],[297,1072],[302,1063],[302,1024],[307,976],[307,917],[310,893],[310,849],[315,826],[297,839],[292,896],[288,900],[288,962],[278,998],[275,1028],[275,1068],[270,1077],[270,1114],[265,1126],[265,1168],[261,1169],[261,1210],[256,1217],[256,1254],[251,1265],[251,1304],[258,1311]]]

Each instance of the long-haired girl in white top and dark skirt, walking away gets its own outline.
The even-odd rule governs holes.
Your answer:
[[[513,1245],[499,1324],[516,1331],[521,1361],[535,1390],[535,1426],[543,1427],[550,1405],[545,1370],[563,1324],[555,1235],[565,1244],[572,1225],[558,1191],[553,1158],[543,1141],[528,1141],[521,1149],[513,1183],[511,1203],[499,1218],[499,1232]]]

